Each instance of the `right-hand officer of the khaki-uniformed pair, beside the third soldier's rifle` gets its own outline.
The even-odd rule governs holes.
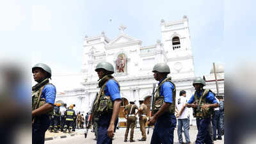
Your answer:
[[[140,108],[138,109],[139,113],[139,120],[140,120],[140,131],[141,131],[141,135],[142,138],[139,141],[146,141],[147,136],[146,136],[146,130],[145,130],[145,125],[147,122],[147,106],[144,104],[144,100],[140,99]],[[136,113],[136,115],[137,115]]]

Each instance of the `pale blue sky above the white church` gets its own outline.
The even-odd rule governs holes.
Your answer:
[[[239,58],[239,52],[231,47],[236,47],[235,42],[239,43],[244,38],[237,38],[236,32],[245,34],[246,28],[237,28],[239,25],[241,28],[240,20],[248,20],[248,13],[241,8],[248,3],[230,2],[1,1],[1,51],[3,47],[8,47],[3,49],[4,54],[15,52],[30,60],[31,65],[47,63],[57,73],[79,72],[85,35],[96,36],[104,31],[106,36],[113,39],[119,34],[120,24],[124,24],[127,35],[140,39],[143,46],[153,45],[158,39],[161,40],[161,19],[180,20],[187,15],[195,74],[202,76],[209,74],[212,62],[232,64],[234,56]],[[253,6],[248,6],[253,10]],[[238,16],[233,12],[237,12]],[[252,12],[249,16],[255,17],[255,14]],[[254,23],[243,24],[249,27]],[[255,35],[254,29],[246,30],[246,34]],[[249,45],[248,49],[251,49]],[[249,57],[254,58],[250,54]],[[243,60],[240,58],[237,62]]]

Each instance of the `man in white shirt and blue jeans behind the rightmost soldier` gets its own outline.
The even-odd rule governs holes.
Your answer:
[[[179,137],[179,143],[185,144],[183,142],[182,138],[182,127],[184,129],[184,135],[186,139],[186,143],[190,143],[189,140],[189,111],[188,108],[186,108],[186,91],[181,90],[180,91],[180,97],[178,100],[176,100],[176,106],[175,111],[177,113],[176,117],[178,118],[178,137]]]

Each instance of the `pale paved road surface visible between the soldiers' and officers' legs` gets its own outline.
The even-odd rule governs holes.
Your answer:
[[[67,138],[59,138],[59,139],[54,139],[54,140],[49,140],[49,141],[45,141],[45,144],[84,144],[84,143],[96,143],[95,140],[93,140],[94,138],[94,133],[90,132],[88,133],[87,138],[84,138],[84,135],[82,134],[83,131],[81,130],[76,130],[78,133],[81,134],[77,134],[76,136],[70,136]],[[147,141],[138,141],[138,139],[141,138],[141,132],[140,129],[134,129],[134,140],[135,142],[133,142],[133,144],[143,144],[143,143],[150,143],[150,139],[152,136],[152,131],[153,129],[150,129],[150,134],[147,135]],[[120,143],[125,143],[124,142],[124,133],[125,133],[125,129],[121,128],[121,129],[117,129],[116,133],[115,133],[115,139],[113,140],[113,144],[120,144]],[[190,130],[189,130],[189,136],[190,136],[190,140],[195,143],[196,140],[196,134],[197,134],[197,129],[195,126],[190,126]],[[214,144],[222,144],[224,143],[224,138],[222,138],[222,140],[217,140],[214,141]],[[128,135],[128,140],[129,140],[129,135]],[[184,136],[183,136],[183,140],[184,142]],[[126,142],[126,143],[130,143],[130,142]],[[178,144],[178,136],[177,136],[177,129],[175,129],[174,131],[174,143]]]

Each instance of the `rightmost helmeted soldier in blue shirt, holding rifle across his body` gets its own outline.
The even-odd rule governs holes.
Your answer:
[[[211,90],[203,88],[205,81],[201,77],[195,78],[193,86],[196,91],[188,100],[186,107],[193,108],[193,115],[196,117],[196,126],[198,129],[196,144],[213,143],[209,132],[209,125],[211,125],[213,108],[219,106],[218,101]]]

